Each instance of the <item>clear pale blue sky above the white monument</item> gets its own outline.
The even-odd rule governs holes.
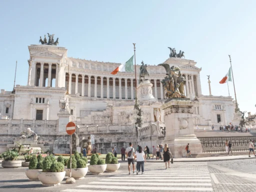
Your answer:
[[[0,88],[27,84],[27,45],[54,33],[68,56],[98,61],[165,61],[167,46],[183,50],[202,67],[202,94],[228,96],[219,80],[231,55],[237,101],[241,110],[256,112],[255,0],[1,0]],[[160,66],[159,66],[160,67]],[[230,95],[234,97],[232,83]]]

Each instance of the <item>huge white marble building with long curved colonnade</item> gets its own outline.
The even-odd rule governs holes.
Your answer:
[[[4,89],[0,91],[0,130],[3,130],[0,134],[16,135],[23,127],[31,126],[41,135],[52,135],[53,140],[43,140],[42,136],[40,142],[53,147],[54,135],[60,134],[59,99],[68,90],[66,97],[69,100],[70,120],[76,122],[80,133],[80,141],[77,139],[77,144],[82,143],[81,139],[85,141],[86,135],[91,133],[98,133],[95,139],[98,142],[103,139],[102,143],[117,143],[120,139],[125,143],[134,137],[134,73],[118,72],[112,75],[110,72],[120,63],[68,57],[64,47],[30,45],[28,50],[27,84],[16,85],[14,93]],[[228,96],[202,95],[201,68],[195,66],[195,61],[182,58],[168,58],[162,61],[181,68],[186,79],[185,94],[193,102],[194,124],[219,126],[232,122],[233,99]],[[136,69],[139,71],[139,66]],[[165,99],[160,83],[165,76],[165,69],[157,65],[149,65],[147,69],[150,76],[146,79],[152,83],[154,99],[141,100],[140,106],[143,111],[143,127],[152,129],[152,125],[157,124],[154,111],[160,108]],[[160,114],[158,125],[163,127],[163,111],[160,111]],[[27,121],[27,124],[24,124],[24,121]],[[54,123],[54,129],[45,128]],[[38,126],[39,124],[42,126]],[[142,134],[143,131],[140,136]],[[144,131],[144,134],[152,135],[153,130]]]

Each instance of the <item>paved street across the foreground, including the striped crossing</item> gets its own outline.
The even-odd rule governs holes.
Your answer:
[[[28,181],[25,168],[0,168],[0,191],[255,191],[256,158],[210,162],[175,162],[165,169],[163,162],[145,163],[143,175],[128,175],[127,162],[117,172],[92,175],[74,184],[44,187]]]

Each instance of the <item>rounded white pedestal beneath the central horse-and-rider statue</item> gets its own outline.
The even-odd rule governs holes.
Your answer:
[[[155,100],[152,95],[153,84],[149,80],[144,80],[140,82],[137,86],[137,97],[138,100]]]

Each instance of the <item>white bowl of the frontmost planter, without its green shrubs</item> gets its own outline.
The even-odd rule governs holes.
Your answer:
[[[38,179],[43,186],[60,185],[60,182],[65,177],[65,171],[62,172],[38,172]]]

